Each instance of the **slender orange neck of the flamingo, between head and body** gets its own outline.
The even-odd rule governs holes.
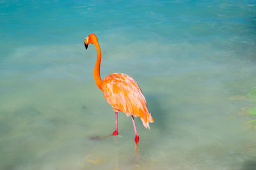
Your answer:
[[[94,67],[94,80],[95,83],[97,85],[97,87],[99,87],[99,89],[102,89],[102,80],[100,78],[100,60],[101,60],[101,52],[100,52],[100,45],[99,43],[95,43],[96,46],[96,50],[97,50],[97,60],[95,63],[95,67]]]

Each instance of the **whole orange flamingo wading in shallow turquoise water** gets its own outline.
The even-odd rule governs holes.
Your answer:
[[[147,109],[147,102],[143,96],[139,85],[130,76],[123,73],[113,73],[103,80],[100,78],[100,60],[101,52],[100,46],[95,34],[90,34],[84,39],[84,46],[87,49],[89,43],[96,46],[97,49],[97,60],[94,67],[94,80],[102,90],[104,97],[108,103],[113,107],[115,111],[115,131],[109,136],[118,135],[117,131],[117,112],[123,111],[127,117],[131,115],[132,124],[134,127],[136,148],[138,148],[139,136],[134,123],[134,117],[140,117],[143,125],[146,129],[150,129],[149,122],[154,122],[151,114]]]

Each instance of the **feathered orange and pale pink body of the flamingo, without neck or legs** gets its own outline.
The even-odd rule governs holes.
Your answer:
[[[136,81],[122,73],[110,74],[102,81],[102,92],[114,111],[123,111],[127,117],[140,117],[143,125],[154,122],[147,109],[147,102]]]

